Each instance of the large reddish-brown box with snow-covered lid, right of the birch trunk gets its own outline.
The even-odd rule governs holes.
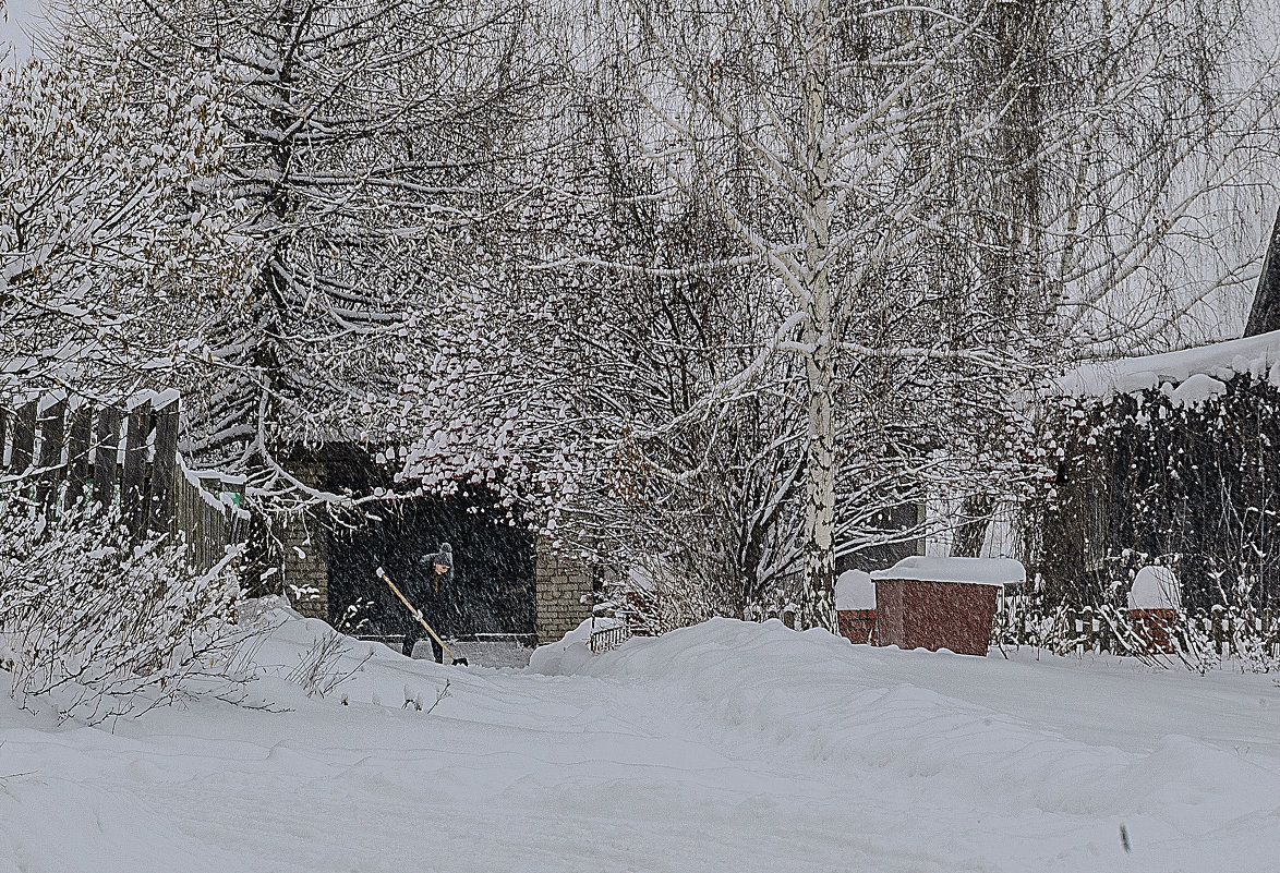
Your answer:
[[[1010,558],[904,558],[873,572],[878,645],[986,655],[996,599],[1027,571]]]

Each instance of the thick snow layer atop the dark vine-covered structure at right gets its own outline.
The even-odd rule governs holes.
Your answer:
[[[1280,388],[1280,330],[1178,352],[1082,364],[1059,379],[1057,388],[1066,397],[1106,398],[1169,383],[1175,404],[1197,406],[1225,393],[1224,383],[1244,374]]]

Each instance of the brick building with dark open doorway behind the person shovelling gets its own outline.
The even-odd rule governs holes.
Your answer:
[[[364,494],[390,485],[385,467],[349,444],[329,444],[292,458],[307,484]],[[284,591],[305,616],[344,632],[394,637],[411,621],[376,577],[383,567],[442,635],[557,640],[590,618],[594,575],[570,549],[512,526],[493,512],[494,497],[470,486],[451,498],[403,498],[366,507],[366,518],[335,522],[306,512],[260,524],[261,588]],[[449,543],[454,568],[438,586],[421,562]]]

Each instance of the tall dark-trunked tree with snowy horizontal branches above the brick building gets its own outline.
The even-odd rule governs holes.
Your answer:
[[[388,449],[424,434],[490,433],[461,383],[493,374],[472,353],[489,343],[486,246],[521,193],[508,170],[540,84],[520,10],[111,0],[69,3],[61,22],[50,51],[68,65],[99,63],[127,33],[146,49],[134,74],[165,78],[173,58],[196,56],[224,87],[209,184],[236,210],[247,269],[200,296],[189,453],[248,471],[251,494],[276,507],[343,503],[283,453],[353,442],[396,465]]]

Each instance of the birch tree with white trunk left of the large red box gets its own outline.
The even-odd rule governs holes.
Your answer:
[[[904,310],[928,311],[915,305],[922,283],[910,261],[966,205],[940,201],[938,182],[982,129],[969,108],[986,104],[968,88],[989,92],[991,83],[964,81],[954,68],[991,6],[814,0],[672,10],[636,1],[623,12],[620,74],[648,110],[631,136],[672,193],[714,209],[744,256],[790,300],[758,362],[707,402],[749,384],[774,353],[803,362],[799,620],[831,627],[837,470],[841,448],[854,448],[837,442],[841,385],[874,408],[888,398],[856,388],[873,388],[877,370],[893,370],[902,384],[927,362],[989,370],[1018,357],[1018,349],[948,347],[947,332],[938,346],[913,347],[902,337],[884,344],[881,329],[901,326]],[[844,376],[842,357],[850,362]],[[873,424],[874,453],[893,453],[895,415],[879,408],[878,420],[863,420]]]

